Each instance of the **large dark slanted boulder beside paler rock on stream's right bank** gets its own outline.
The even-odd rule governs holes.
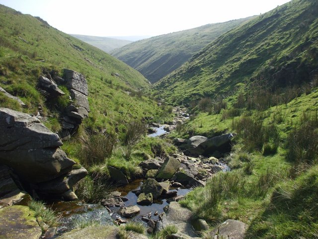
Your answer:
[[[214,151],[221,151],[221,152],[229,151],[229,149],[231,148],[231,144],[230,144],[231,138],[233,138],[234,136],[235,134],[228,133],[228,134],[207,139],[205,141],[200,142],[197,146],[193,148],[188,148],[185,151],[185,154],[199,156],[199,155],[209,155],[209,154],[211,155]],[[196,144],[197,142],[193,145],[196,145]]]

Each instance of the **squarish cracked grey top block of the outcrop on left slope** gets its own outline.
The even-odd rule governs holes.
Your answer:
[[[88,96],[88,87],[85,77],[72,70],[64,69],[64,76],[68,89],[73,89],[85,96]]]

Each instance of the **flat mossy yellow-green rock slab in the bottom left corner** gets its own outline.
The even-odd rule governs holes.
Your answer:
[[[0,209],[0,239],[39,239],[42,230],[34,215],[26,206]]]

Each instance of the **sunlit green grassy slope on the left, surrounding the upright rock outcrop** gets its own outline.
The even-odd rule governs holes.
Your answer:
[[[52,69],[62,74],[63,68],[86,77],[91,107],[87,124],[95,128],[118,124],[126,114],[130,119],[160,112],[154,101],[124,92],[147,87],[149,82],[105,52],[58,31],[41,19],[5,6],[0,6],[0,25],[0,86],[27,104],[24,112],[36,114],[40,106],[47,115],[53,113],[36,89],[37,80],[40,74]],[[10,107],[7,99],[0,102],[2,107]],[[14,104],[11,107],[18,109]]]

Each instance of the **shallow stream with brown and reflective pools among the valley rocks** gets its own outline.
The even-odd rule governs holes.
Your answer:
[[[180,109],[180,108],[179,108]],[[180,120],[181,122],[184,122],[186,119],[188,119],[188,115],[185,114],[182,111],[178,111],[178,118],[173,120],[173,123],[170,125],[163,124],[163,125],[153,125],[153,133],[150,133],[149,137],[156,137],[156,136],[162,136],[167,133],[169,133],[170,130],[173,130],[176,123]],[[167,130],[165,130],[167,129]],[[181,156],[181,154],[179,154]],[[230,167],[226,165],[226,163],[222,160],[220,161],[211,161],[211,162],[205,162],[202,164],[201,158],[194,158],[194,157],[187,157],[187,156],[181,156],[182,158],[179,158],[179,161],[181,161],[180,167],[188,167],[188,164],[191,164],[190,166],[197,167],[196,169],[203,168],[217,168],[217,171],[223,170],[223,171],[230,171]],[[209,160],[208,160],[209,161]],[[183,165],[183,166],[182,166]],[[188,165],[188,166],[187,166]],[[199,167],[200,166],[200,167]],[[215,173],[214,170],[212,170],[213,173]],[[195,172],[195,171],[194,171]],[[117,191],[120,194],[120,197],[124,201],[124,207],[128,206],[135,206],[137,205],[137,199],[138,196],[136,195],[136,191],[140,190],[141,185],[143,184],[143,180],[135,180],[133,182],[130,182],[128,185],[123,187],[117,187],[114,189],[114,191]],[[180,195],[186,195],[188,192],[190,192],[193,189],[191,186],[180,186],[180,187],[170,187],[169,192],[176,192],[176,195],[173,195],[173,197],[180,196]],[[170,196],[172,197],[172,196]],[[80,224],[85,224],[87,222],[96,221],[98,224],[101,225],[113,225],[114,223],[120,222],[139,222],[143,223],[145,226],[147,226],[147,223],[145,223],[142,218],[145,216],[148,216],[151,214],[151,217],[149,217],[153,221],[159,221],[160,214],[163,213],[164,207],[169,205],[168,198],[163,198],[162,196],[159,197],[159,199],[156,199],[153,201],[153,203],[149,206],[141,206],[137,205],[140,208],[140,213],[137,215],[131,217],[131,218],[124,218],[119,214],[120,207],[103,207],[100,204],[85,204],[80,201],[75,202],[57,202],[54,203],[51,208],[55,210],[56,212],[60,213],[60,226],[56,230],[56,234],[60,235],[65,232],[71,231],[72,229],[79,227]],[[118,206],[118,205],[117,205]],[[108,210],[111,212],[109,213]]]

